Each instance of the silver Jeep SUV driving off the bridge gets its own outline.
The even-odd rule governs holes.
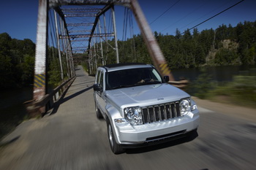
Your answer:
[[[104,118],[113,153],[197,131],[195,101],[141,63],[100,66],[94,84],[98,118]]]

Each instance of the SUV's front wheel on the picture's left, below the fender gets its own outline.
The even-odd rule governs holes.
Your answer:
[[[115,136],[113,134],[113,129],[110,124],[110,120],[107,119],[107,125],[108,125],[108,141],[110,143],[110,148],[114,154],[120,154],[124,152],[124,148],[121,147],[120,144],[116,143]]]

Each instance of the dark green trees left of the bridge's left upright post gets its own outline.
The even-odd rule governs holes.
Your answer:
[[[0,88],[33,83],[35,45],[0,34]]]

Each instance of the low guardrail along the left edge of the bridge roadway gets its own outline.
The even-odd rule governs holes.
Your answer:
[[[27,112],[29,112],[30,117],[37,117],[38,115],[45,115],[49,109],[54,107],[54,104],[59,100],[61,95],[69,88],[69,86],[74,82],[76,77],[72,77],[66,82],[53,89],[53,92],[46,94],[39,100],[25,101],[23,104],[26,106]],[[43,108],[43,109],[42,109]],[[45,109],[44,109],[45,108]]]

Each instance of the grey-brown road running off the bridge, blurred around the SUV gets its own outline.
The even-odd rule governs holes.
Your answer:
[[[94,112],[94,77],[82,67],[76,74],[53,114],[21,123],[1,141],[0,169],[256,169],[255,117],[203,109],[203,101],[196,139],[113,155],[106,123]]]

